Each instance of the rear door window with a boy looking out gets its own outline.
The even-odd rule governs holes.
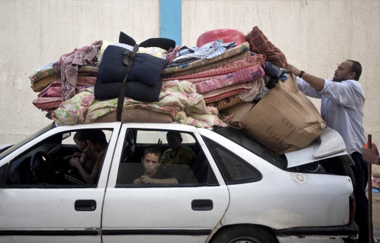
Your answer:
[[[117,188],[210,185],[218,185],[217,179],[194,134],[127,130]]]

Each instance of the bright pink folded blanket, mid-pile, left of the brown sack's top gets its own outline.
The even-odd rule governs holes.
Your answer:
[[[255,79],[261,79],[263,75],[264,70],[262,70],[260,65],[255,65],[253,67],[248,67],[243,70],[232,72],[230,74],[225,74],[222,77],[209,79],[201,83],[197,83],[196,90],[198,91],[198,93],[215,91],[219,88],[231,86],[234,84],[240,84]]]

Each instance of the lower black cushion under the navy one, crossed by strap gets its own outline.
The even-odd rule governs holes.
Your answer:
[[[154,86],[148,86],[140,82],[127,82],[125,97],[144,102],[156,102],[159,100],[162,84],[162,78],[158,79],[157,84]],[[95,98],[98,100],[119,98],[121,87],[122,83],[120,82],[101,83],[98,77],[95,83]]]

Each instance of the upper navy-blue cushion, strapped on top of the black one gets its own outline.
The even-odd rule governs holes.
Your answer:
[[[98,73],[102,83],[124,81],[127,66],[122,62],[122,58],[126,51],[127,49],[120,46],[108,46],[106,48]],[[167,60],[156,58],[153,55],[136,54],[127,81],[139,81],[154,86],[167,64]]]

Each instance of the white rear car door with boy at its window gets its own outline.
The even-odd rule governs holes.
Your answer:
[[[158,138],[165,147],[165,133],[173,130],[187,138],[183,143],[191,145],[191,150],[198,147],[193,151],[198,169],[162,164],[163,169],[178,169],[178,185],[133,184],[141,176],[134,168],[141,166],[143,147],[157,143]],[[179,173],[182,169],[187,172]],[[228,205],[227,186],[194,126],[123,124],[104,200],[104,243],[204,242]]]

